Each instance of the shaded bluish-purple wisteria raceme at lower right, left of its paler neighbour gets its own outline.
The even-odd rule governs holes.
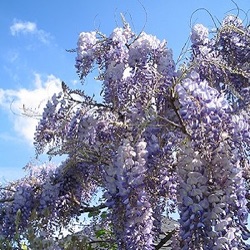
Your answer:
[[[178,162],[181,249],[211,249],[207,166],[188,146],[183,147]]]

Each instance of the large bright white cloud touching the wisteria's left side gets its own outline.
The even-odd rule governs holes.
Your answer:
[[[33,89],[0,88],[0,108],[8,113],[15,131],[29,144],[33,144],[35,128],[43,108],[53,94],[60,91],[60,79],[49,75],[43,81],[39,74],[35,74]]]

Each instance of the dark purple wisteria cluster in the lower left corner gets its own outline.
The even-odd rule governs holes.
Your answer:
[[[1,188],[1,200],[6,202],[0,207],[0,235],[11,240],[39,220],[40,230],[52,236],[55,227],[67,225],[72,217],[79,215],[82,200],[90,200],[96,186],[85,183],[89,177],[84,174],[82,164],[68,170],[67,164],[70,163],[59,167],[32,166],[27,177]],[[45,226],[43,221],[49,224]]]

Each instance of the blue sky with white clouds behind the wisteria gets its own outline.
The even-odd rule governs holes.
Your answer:
[[[250,9],[249,0],[235,2]],[[219,20],[228,11],[237,13],[230,0],[0,1],[0,181],[23,176],[22,168],[34,158],[37,120],[24,117],[23,109],[41,113],[61,80],[90,94],[99,92],[100,85],[91,78],[84,86],[79,83],[75,54],[66,52],[76,48],[80,32],[99,29],[109,35],[121,25],[123,13],[136,32],[144,29],[166,39],[177,58],[190,23],[214,27],[206,11],[194,13],[199,8]]]

